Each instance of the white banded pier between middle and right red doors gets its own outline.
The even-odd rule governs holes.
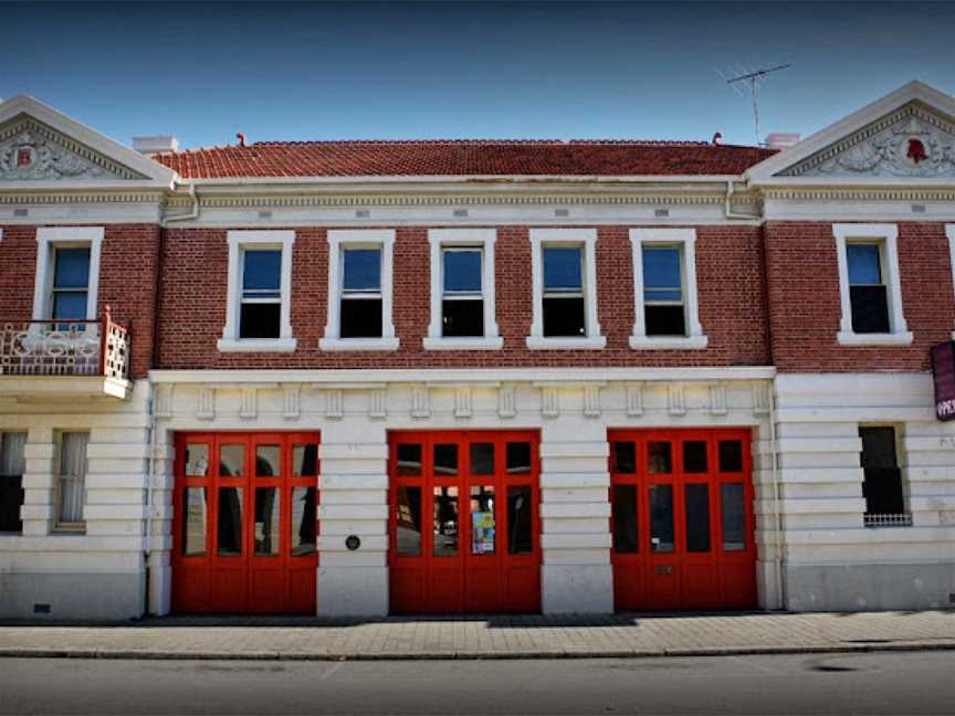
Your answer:
[[[609,448],[602,420],[562,413],[541,442],[544,613],[613,611]]]

